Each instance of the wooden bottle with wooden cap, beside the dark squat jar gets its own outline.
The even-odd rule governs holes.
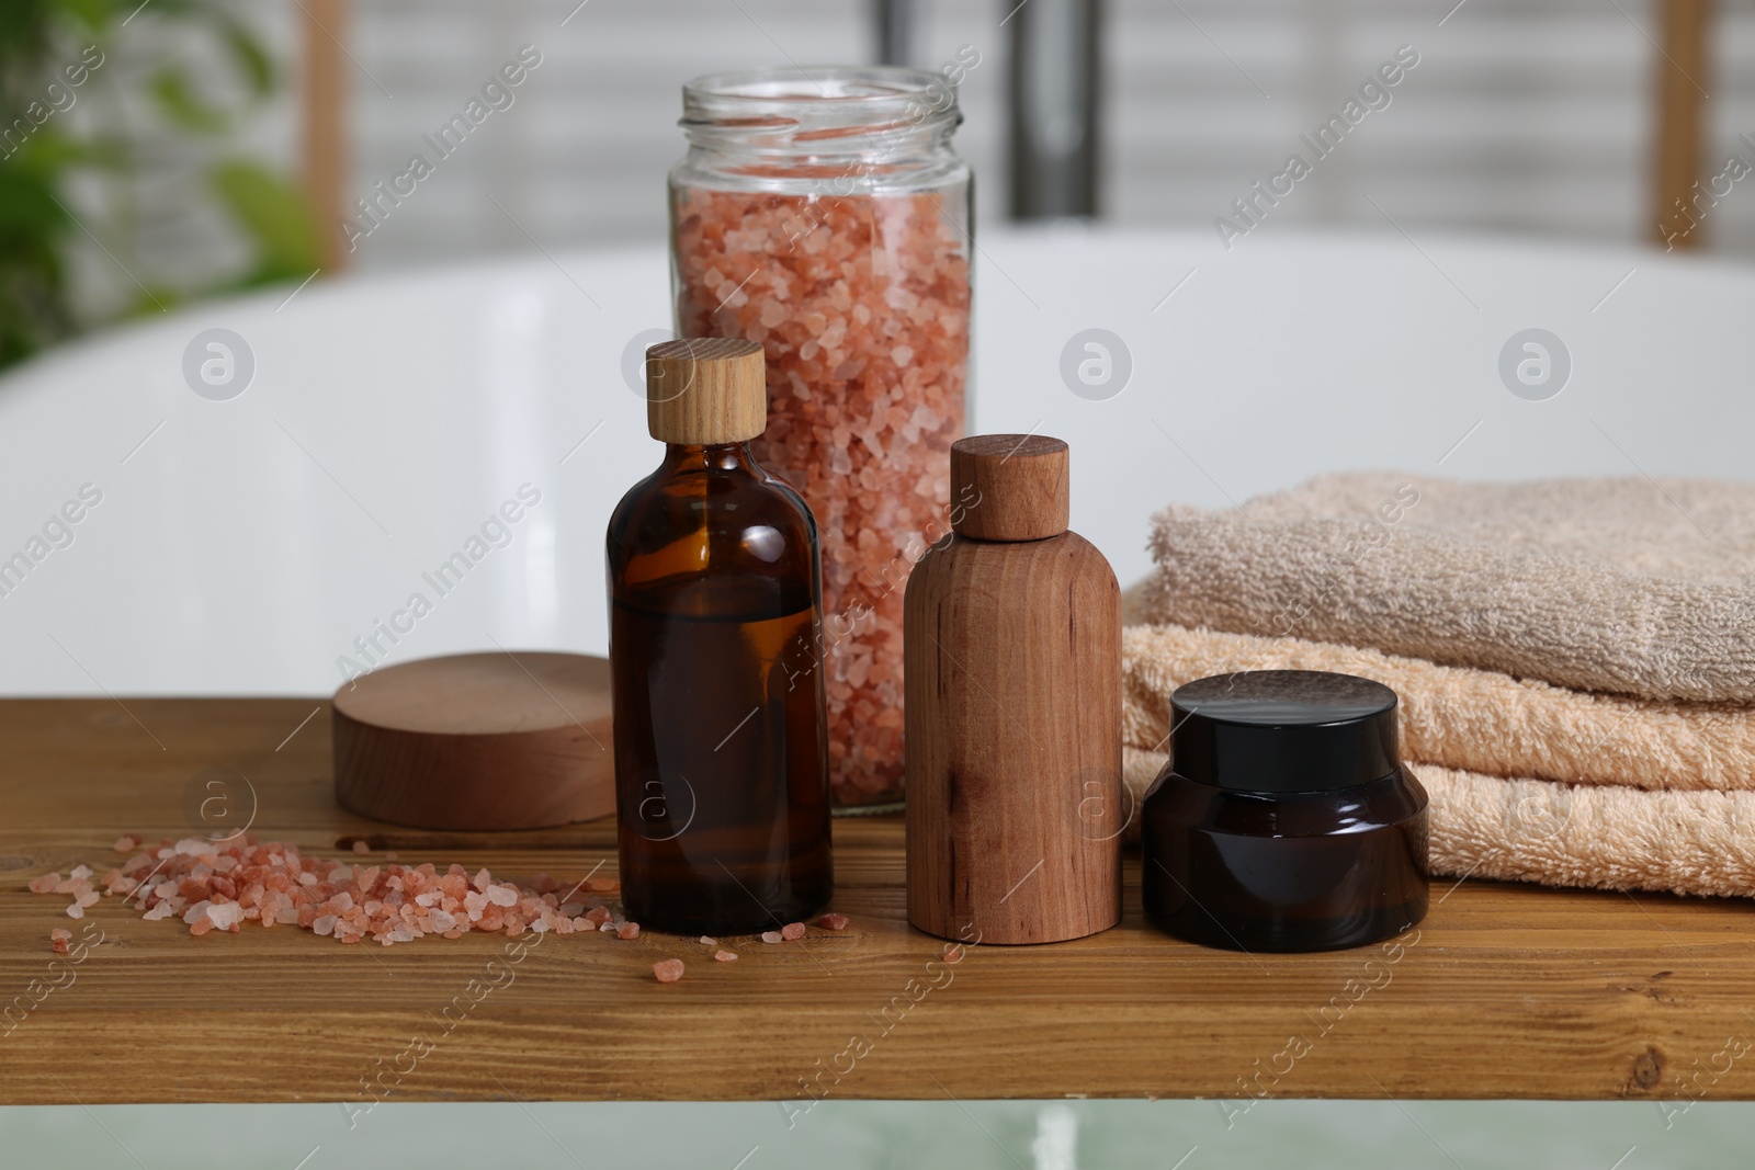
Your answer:
[[[904,605],[907,919],[1060,942],[1121,917],[1121,603],[1067,531],[1067,444],[951,447],[953,537]]]

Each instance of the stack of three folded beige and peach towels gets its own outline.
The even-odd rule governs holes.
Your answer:
[[[1402,698],[1436,875],[1755,896],[1755,486],[1358,472],[1151,540],[1135,795],[1179,684],[1339,670]]]

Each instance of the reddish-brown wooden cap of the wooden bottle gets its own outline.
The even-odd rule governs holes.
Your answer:
[[[951,528],[976,540],[1044,540],[1067,530],[1067,444],[971,435],[951,444]]]

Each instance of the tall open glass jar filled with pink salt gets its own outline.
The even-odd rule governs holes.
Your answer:
[[[949,535],[949,447],[969,375],[969,167],[941,75],[776,68],[683,89],[670,172],[679,337],[767,358],[756,460],[797,488],[823,547],[823,628],[781,651],[823,670],[842,805],[902,795],[902,593]]]

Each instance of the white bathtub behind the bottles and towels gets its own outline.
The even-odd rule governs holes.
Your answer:
[[[1123,582],[1150,567],[1155,507],[1225,507],[1323,470],[1755,475],[1744,267],[1397,233],[1258,232],[1230,253],[1202,232],[979,244],[971,426],[1072,444],[1074,528]],[[667,326],[665,281],[649,246],[314,282],[0,379],[0,558],[30,561],[0,575],[0,693],[321,695],[363,661],[356,640],[391,660],[602,653],[604,523],[658,458],[623,353]],[[212,328],[254,363],[225,400],[184,375]],[[1079,396],[1062,377],[1088,328],[1130,354],[1113,396],[1114,381]],[[1499,372],[1527,328],[1571,356],[1539,402]],[[219,351],[200,360],[225,382]],[[1102,372],[1099,351],[1079,360]],[[526,484],[541,498],[504,547],[433,596],[421,574]],[[414,591],[432,612],[397,617]],[[404,630],[393,646],[379,623]]]

